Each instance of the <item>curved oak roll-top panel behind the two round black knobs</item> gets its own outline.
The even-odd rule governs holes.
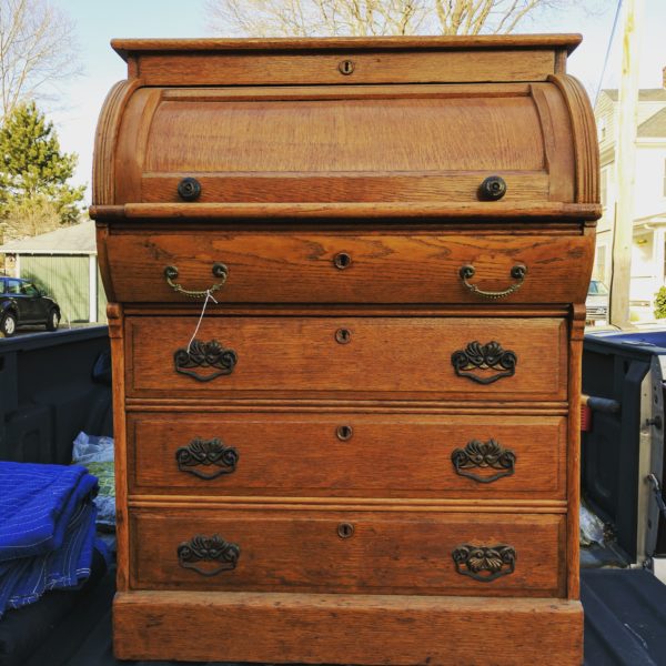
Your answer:
[[[451,204],[483,201],[480,185],[495,174],[504,203],[574,201],[569,108],[554,83],[334,89],[141,88],[104,189],[117,203],[175,203],[189,175],[202,184],[195,206]]]

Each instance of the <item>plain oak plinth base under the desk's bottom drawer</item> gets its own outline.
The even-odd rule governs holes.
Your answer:
[[[115,597],[113,625],[121,659],[424,666],[583,662],[581,603],[553,598],[130,592]]]

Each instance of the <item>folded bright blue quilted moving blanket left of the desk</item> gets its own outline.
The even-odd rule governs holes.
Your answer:
[[[0,462],[0,617],[90,575],[97,488],[78,465]]]

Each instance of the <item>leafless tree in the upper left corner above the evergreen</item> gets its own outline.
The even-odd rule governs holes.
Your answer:
[[[47,0],[0,0],[0,113],[77,74],[74,23]]]

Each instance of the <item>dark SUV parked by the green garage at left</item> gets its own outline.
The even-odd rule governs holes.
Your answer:
[[[60,323],[60,307],[34,284],[19,278],[0,275],[0,336],[10,337],[17,326],[44,324],[56,331]]]

